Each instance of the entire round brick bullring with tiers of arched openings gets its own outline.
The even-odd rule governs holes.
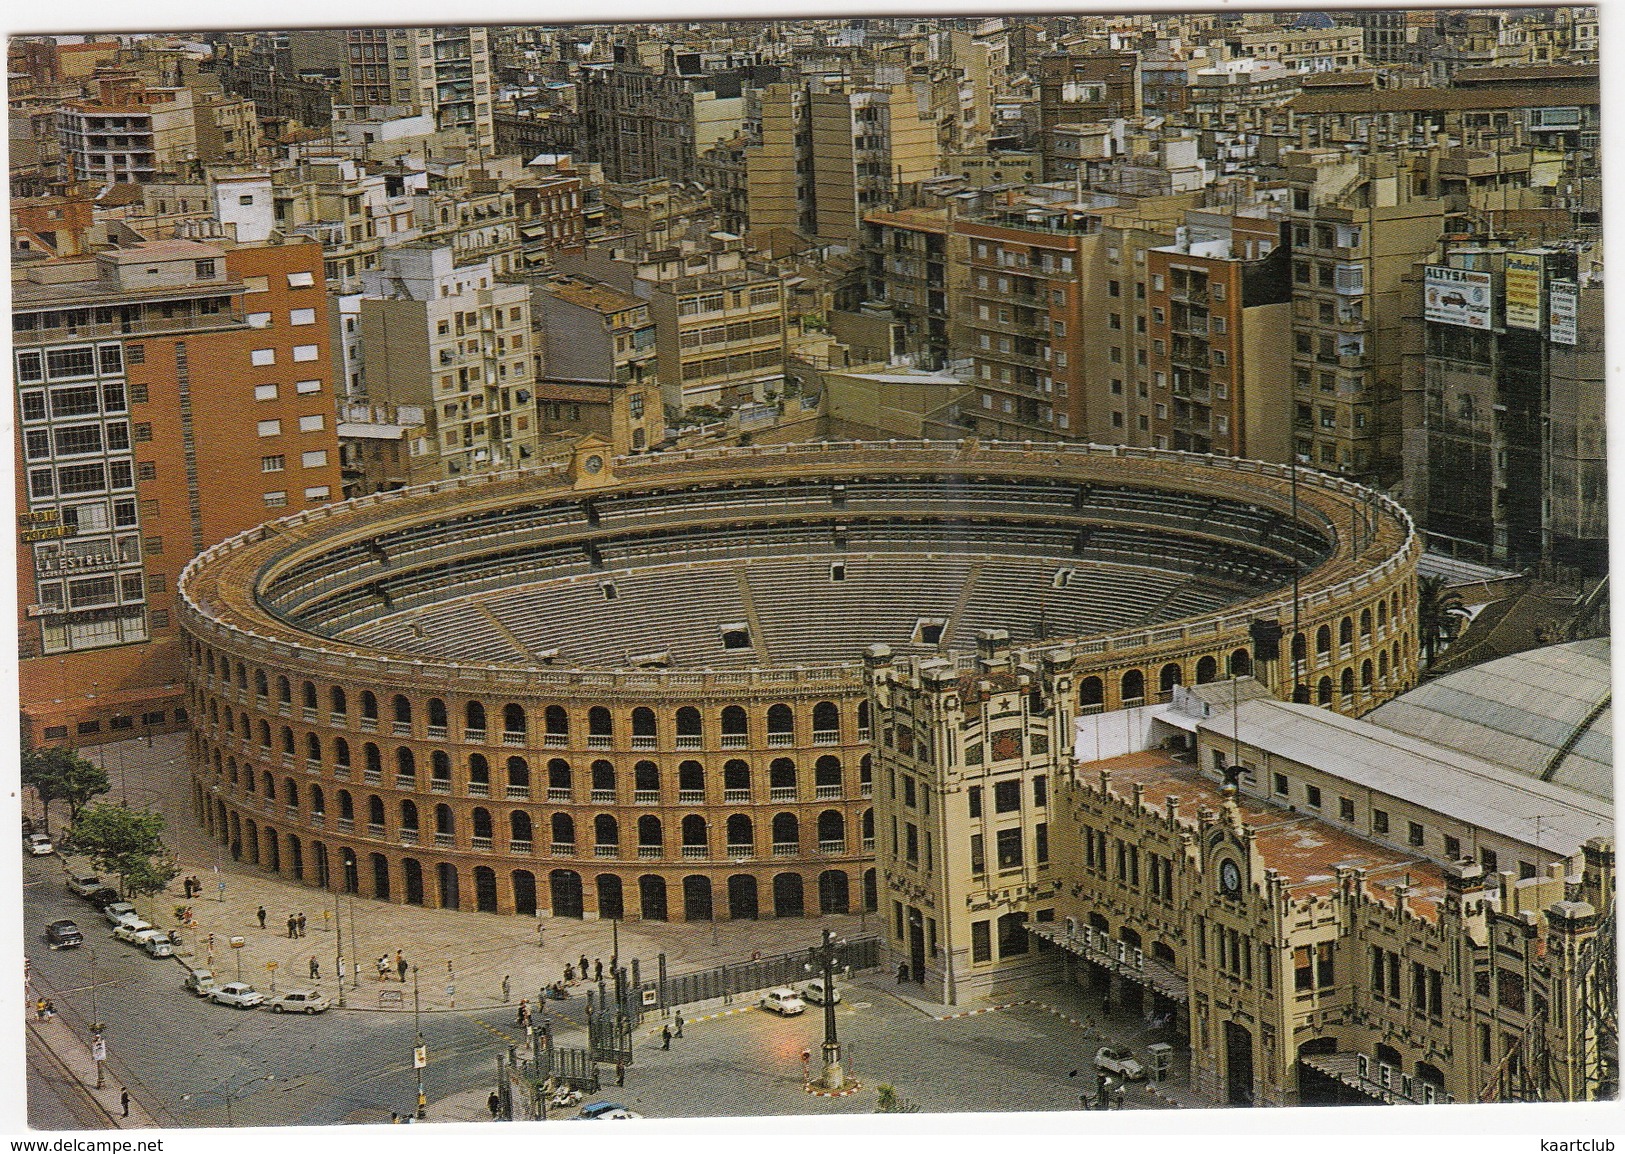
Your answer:
[[[595,449],[301,514],[187,567],[211,835],[436,907],[873,909],[871,644],[970,662],[1008,631],[1072,670],[1058,725],[1230,673],[1347,712],[1415,678],[1409,518],[1323,475],[978,442],[590,470]],[[1254,665],[1258,619],[1295,668]]]

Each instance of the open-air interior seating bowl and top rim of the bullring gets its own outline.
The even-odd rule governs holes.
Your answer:
[[[866,645],[1100,653],[1363,588],[1393,502],[1310,470],[1097,445],[806,444],[361,497],[193,561],[184,614],[275,649],[448,670],[856,665]],[[286,652],[286,650],[284,650]],[[968,660],[968,658],[967,658]]]

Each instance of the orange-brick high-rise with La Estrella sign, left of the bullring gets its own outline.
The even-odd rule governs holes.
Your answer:
[[[15,263],[13,358],[24,731],[182,720],[180,569],[341,496],[322,252],[153,241]]]

